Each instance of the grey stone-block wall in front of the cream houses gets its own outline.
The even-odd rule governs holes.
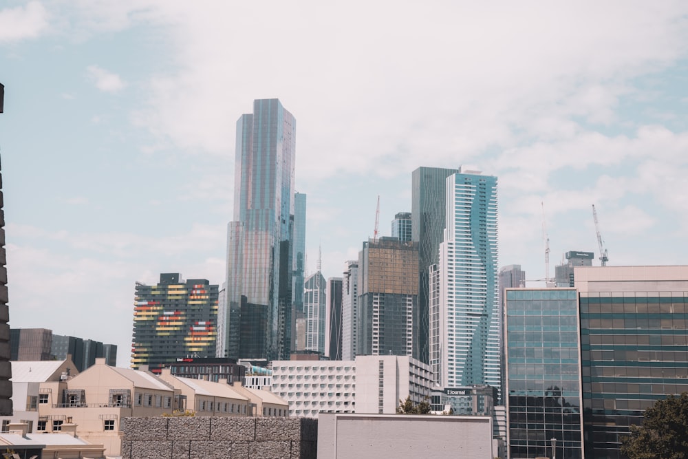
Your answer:
[[[308,418],[122,418],[122,459],[316,459]]]

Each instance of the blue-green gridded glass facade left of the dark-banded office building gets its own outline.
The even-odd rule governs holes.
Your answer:
[[[505,321],[509,457],[582,458],[576,290],[508,289]]]

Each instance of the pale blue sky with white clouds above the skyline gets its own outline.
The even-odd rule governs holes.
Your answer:
[[[118,345],[137,281],[222,285],[235,123],[279,98],[325,277],[411,211],[411,172],[499,184],[499,265],[688,259],[685,1],[3,1],[12,328]]]

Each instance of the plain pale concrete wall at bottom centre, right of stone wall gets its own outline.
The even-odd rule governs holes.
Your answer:
[[[489,416],[332,414],[318,418],[318,459],[493,459]]]

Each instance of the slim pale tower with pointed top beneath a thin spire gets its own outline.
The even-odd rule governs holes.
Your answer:
[[[305,309],[305,350],[325,354],[325,323],[327,283],[320,271],[308,276],[303,283],[303,308]]]

